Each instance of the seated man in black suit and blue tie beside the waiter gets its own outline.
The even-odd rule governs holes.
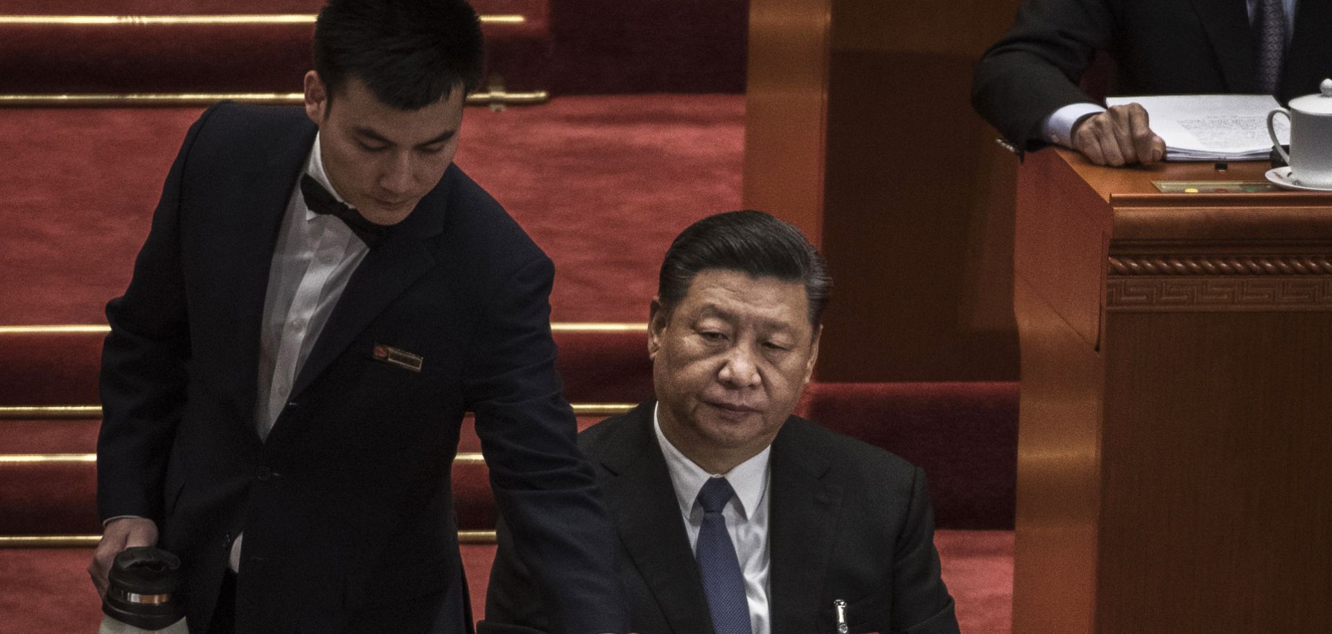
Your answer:
[[[759,212],[705,218],[666,253],[658,401],[578,436],[635,631],[958,631],[920,469],[791,416],[830,284],[805,236]],[[501,525],[478,633],[566,631],[515,537]]]

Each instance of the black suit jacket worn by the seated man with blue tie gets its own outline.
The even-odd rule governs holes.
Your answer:
[[[666,461],[653,402],[578,436],[597,466],[619,533],[619,577],[631,630],[710,634],[713,623]],[[769,483],[773,634],[835,631],[832,601],[852,633],[956,633],[939,578],[924,473],[902,458],[790,417],[773,441]],[[561,631],[531,586],[531,566],[501,526],[478,634]]]

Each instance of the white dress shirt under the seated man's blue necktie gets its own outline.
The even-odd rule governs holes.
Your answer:
[[[657,408],[659,409],[661,404]],[[763,448],[758,456],[741,462],[727,473],[711,474],[666,440],[661,422],[657,420],[657,409],[653,409],[653,428],[657,430],[657,442],[662,448],[666,469],[670,472],[670,479],[675,487],[675,501],[679,503],[679,514],[685,519],[690,549],[698,543],[698,531],[703,525],[703,507],[698,505],[698,491],[709,478],[721,477],[725,477],[731,489],[735,490],[735,495],[722,509],[722,517],[726,518],[726,531],[735,546],[735,557],[739,559],[741,573],[745,575],[745,598],[749,602],[751,631],[753,634],[771,634],[773,625],[767,605],[771,587],[769,585],[767,485],[770,481],[769,457],[773,448]]]

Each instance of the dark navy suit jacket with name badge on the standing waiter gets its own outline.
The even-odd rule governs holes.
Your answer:
[[[413,633],[437,615],[470,630],[449,465],[473,410],[545,591],[578,630],[622,631],[609,521],[554,369],[551,262],[457,166],[366,254],[260,441],[269,265],[314,133],[300,109],[236,104],[190,128],[107,306],[101,517],[157,521],[194,631],[242,530],[241,633]],[[421,370],[376,361],[378,344]]]

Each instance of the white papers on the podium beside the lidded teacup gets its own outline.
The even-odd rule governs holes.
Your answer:
[[[1106,105],[1142,104],[1152,132],[1166,140],[1167,161],[1267,160],[1272,137],[1267,113],[1280,105],[1271,95],[1169,95],[1110,97]],[[1291,124],[1275,121],[1281,145],[1291,143]]]

